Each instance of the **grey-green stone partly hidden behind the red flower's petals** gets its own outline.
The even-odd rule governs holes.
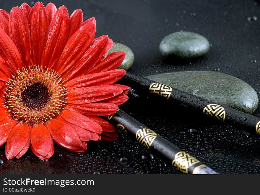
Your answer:
[[[115,52],[115,51],[124,51],[124,52],[126,52],[126,57],[125,57],[124,61],[122,62],[122,64],[118,68],[122,68],[124,70],[128,70],[134,63],[134,53],[133,53],[133,51],[128,46],[125,46],[122,43],[114,42],[113,46],[107,52],[107,54],[110,54],[110,53]]]

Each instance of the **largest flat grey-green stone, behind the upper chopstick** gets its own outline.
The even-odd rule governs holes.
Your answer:
[[[170,72],[146,78],[248,114],[258,106],[258,96],[250,85],[221,72]]]

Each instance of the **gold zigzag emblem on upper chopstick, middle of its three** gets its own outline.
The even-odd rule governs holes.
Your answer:
[[[210,117],[214,117],[217,120],[222,122],[225,121],[226,111],[223,106],[218,104],[209,104],[203,110],[204,115],[208,115]]]

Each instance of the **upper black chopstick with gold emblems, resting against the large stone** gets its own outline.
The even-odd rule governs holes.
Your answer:
[[[219,105],[215,102],[194,96],[192,94],[126,72],[126,75],[118,81],[136,90],[140,95],[152,99],[160,99],[166,105],[181,105],[189,110],[189,114],[202,114],[219,122],[243,129],[252,134],[260,135],[260,118]]]

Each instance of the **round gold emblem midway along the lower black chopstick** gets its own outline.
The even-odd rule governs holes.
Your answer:
[[[151,129],[142,128],[136,132],[136,139],[141,145],[149,149],[155,140],[157,133]]]

